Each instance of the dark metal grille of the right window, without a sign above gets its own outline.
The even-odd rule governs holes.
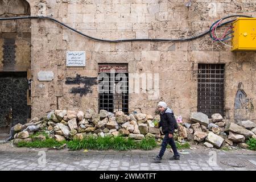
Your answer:
[[[197,111],[224,115],[224,64],[198,64]]]

